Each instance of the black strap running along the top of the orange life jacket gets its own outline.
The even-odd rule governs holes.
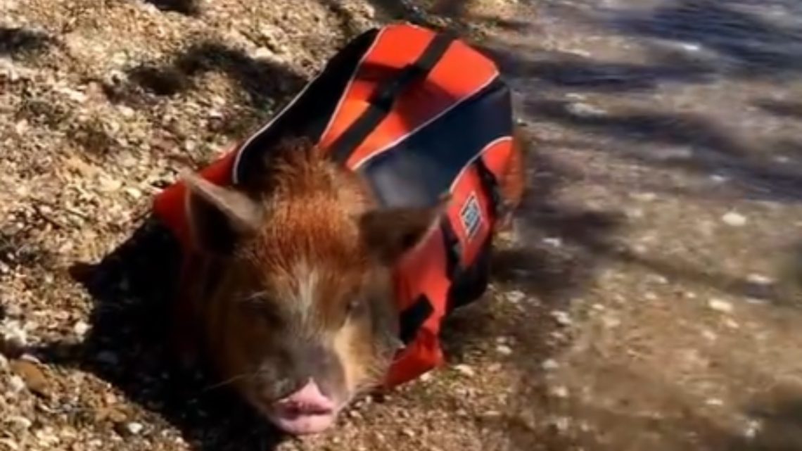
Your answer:
[[[455,37],[449,33],[439,33],[423,50],[414,62],[403,67],[399,74],[385,80],[376,88],[369,100],[370,106],[359,116],[354,124],[338,136],[331,144],[330,153],[334,160],[345,162],[354,148],[390,114],[395,99],[415,80],[426,78],[429,72],[443,58]]]

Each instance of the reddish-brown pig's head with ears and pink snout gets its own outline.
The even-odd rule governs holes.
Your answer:
[[[399,346],[392,268],[444,203],[379,209],[367,185],[297,140],[263,177],[223,188],[188,174],[206,262],[205,342],[219,376],[279,429],[322,432],[379,384]]]

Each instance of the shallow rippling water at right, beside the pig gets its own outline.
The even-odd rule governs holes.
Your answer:
[[[802,3],[525,5],[488,47],[533,139],[519,242],[570,262],[530,292],[587,318],[566,435],[800,449]]]

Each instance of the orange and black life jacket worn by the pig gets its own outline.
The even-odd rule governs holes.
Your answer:
[[[200,175],[217,185],[236,185],[283,136],[318,143],[360,173],[383,206],[434,205],[443,193],[452,194],[439,233],[394,268],[399,339],[406,346],[385,386],[439,367],[441,324],[488,285],[502,203],[497,181],[514,145],[510,91],[496,65],[462,40],[420,26],[394,23],[367,30],[268,124]],[[184,196],[184,185],[176,181],[157,195],[154,213],[189,246]]]

